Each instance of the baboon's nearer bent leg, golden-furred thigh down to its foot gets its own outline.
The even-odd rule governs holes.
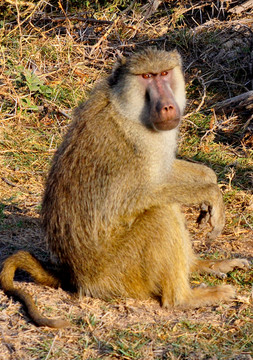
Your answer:
[[[130,253],[135,249],[124,278],[130,296],[160,297],[162,306],[169,308],[199,307],[234,296],[228,285],[191,289],[189,273],[195,255],[177,204],[147,210],[135,221],[125,240]],[[126,249],[124,253],[119,258],[126,259]]]

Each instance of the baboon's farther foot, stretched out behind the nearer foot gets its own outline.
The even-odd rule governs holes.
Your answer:
[[[226,273],[233,271],[235,268],[247,269],[249,267],[250,264],[246,259],[231,259],[231,260],[196,259],[191,267],[191,271],[214,274],[219,277],[225,278]]]

